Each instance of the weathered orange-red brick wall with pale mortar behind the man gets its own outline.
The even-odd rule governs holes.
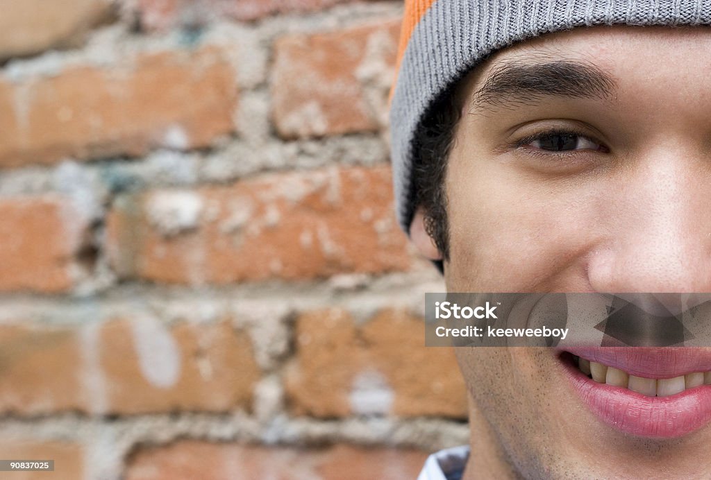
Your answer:
[[[392,214],[398,0],[9,0],[0,457],[412,479],[466,443]],[[43,479],[14,474],[13,479]]]

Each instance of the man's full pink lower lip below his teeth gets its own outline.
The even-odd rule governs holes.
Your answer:
[[[597,383],[564,361],[572,386],[592,413],[622,432],[641,437],[674,438],[711,421],[711,386],[668,397],[648,397],[627,388]]]

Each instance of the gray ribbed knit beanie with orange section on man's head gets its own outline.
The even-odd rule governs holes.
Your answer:
[[[711,0],[405,0],[390,108],[397,219],[415,213],[415,134],[429,108],[486,55],[542,33],[579,26],[708,25]]]

